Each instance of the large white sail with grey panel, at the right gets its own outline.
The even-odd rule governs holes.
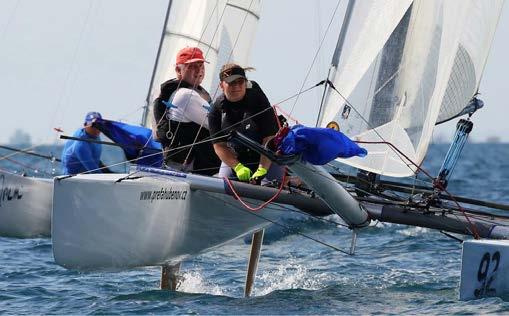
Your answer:
[[[340,160],[378,174],[414,174],[435,122],[477,92],[503,0],[356,1],[319,117],[363,144]],[[346,99],[346,100],[345,100]],[[391,145],[397,147],[403,157]],[[410,159],[411,161],[409,161]]]

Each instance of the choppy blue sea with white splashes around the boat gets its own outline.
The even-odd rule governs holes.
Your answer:
[[[432,145],[424,168],[435,174],[447,148]],[[462,158],[450,191],[509,204],[509,144],[467,144]],[[0,167],[23,169],[5,160]],[[40,168],[51,170],[47,162]],[[291,229],[266,232],[251,298],[243,298],[249,244],[242,239],[184,262],[183,281],[169,292],[158,289],[158,268],[80,273],[54,263],[50,239],[0,238],[0,313],[509,313],[500,298],[458,300],[461,243],[437,231],[378,223],[359,234],[348,256],[295,234],[347,249],[343,227],[304,217],[284,225]]]

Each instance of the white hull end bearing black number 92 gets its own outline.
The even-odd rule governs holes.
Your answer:
[[[509,294],[509,240],[463,243],[460,300]]]

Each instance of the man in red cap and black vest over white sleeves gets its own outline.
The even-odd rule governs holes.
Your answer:
[[[185,47],[177,53],[176,78],[161,84],[161,94],[154,100],[155,134],[163,145],[167,167],[213,175],[220,161],[212,145],[193,145],[210,136],[207,115],[211,98],[200,86],[205,62],[198,47]]]

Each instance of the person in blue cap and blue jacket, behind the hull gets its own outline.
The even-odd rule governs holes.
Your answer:
[[[102,119],[99,112],[88,112],[85,116],[84,127],[78,129],[73,137],[83,139],[68,140],[62,151],[62,172],[63,174],[78,174],[85,171],[90,173],[111,173],[101,162],[101,144],[87,142],[99,140],[101,131],[93,127],[96,120]]]

